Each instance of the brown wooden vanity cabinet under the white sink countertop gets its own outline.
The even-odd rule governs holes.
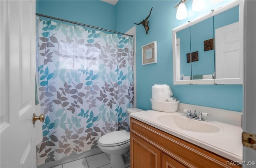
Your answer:
[[[218,154],[130,118],[131,168],[238,168]]]

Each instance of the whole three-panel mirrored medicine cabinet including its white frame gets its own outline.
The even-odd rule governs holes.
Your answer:
[[[174,85],[243,83],[243,3],[172,30]]]

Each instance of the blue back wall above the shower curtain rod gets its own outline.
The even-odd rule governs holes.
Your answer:
[[[108,30],[116,27],[115,6],[100,0],[36,0],[36,13]]]

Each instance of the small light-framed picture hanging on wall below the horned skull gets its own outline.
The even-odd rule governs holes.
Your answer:
[[[148,43],[141,47],[142,65],[157,63],[157,46],[156,41]]]

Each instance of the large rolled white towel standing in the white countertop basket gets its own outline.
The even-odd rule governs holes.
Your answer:
[[[165,102],[167,98],[172,97],[173,93],[168,85],[152,86],[152,99]]]

